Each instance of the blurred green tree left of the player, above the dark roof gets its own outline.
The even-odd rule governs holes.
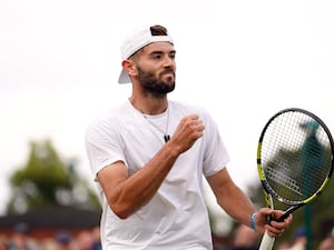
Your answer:
[[[30,143],[28,161],[11,176],[10,186],[8,213],[58,204],[100,208],[95,191],[77,173],[73,161],[62,160],[49,140]]]

